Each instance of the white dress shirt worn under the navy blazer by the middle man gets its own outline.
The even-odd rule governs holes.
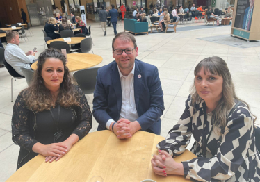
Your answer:
[[[133,88],[133,76],[135,65],[133,65],[133,69],[128,76],[124,76],[119,67],[117,66],[120,81],[121,81],[121,90],[122,90],[122,106],[120,112],[120,119],[125,118],[129,119],[130,122],[136,121],[138,119],[138,113],[136,110],[136,101],[134,97],[134,88]],[[115,122],[113,119],[109,119],[106,122],[106,128],[109,129],[109,126],[112,122]]]

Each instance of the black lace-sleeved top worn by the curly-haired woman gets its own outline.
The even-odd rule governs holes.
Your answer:
[[[92,128],[92,114],[85,94],[78,86],[74,86],[74,89],[78,92],[79,106],[60,107],[58,128],[63,129],[63,136],[56,142],[63,142],[72,133],[78,135],[81,140]],[[58,104],[55,108],[51,108],[53,119],[50,110],[38,113],[29,110],[25,105],[23,92],[15,101],[12,117],[12,140],[20,147],[17,169],[38,155],[32,150],[35,143],[54,143],[54,133],[57,131],[54,119],[58,118]]]

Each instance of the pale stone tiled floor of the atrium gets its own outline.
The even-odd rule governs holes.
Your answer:
[[[204,23],[198,23],[202,25]],[[88,24],[90,25],[90,24]],[[92,39],[95,46],[92,47],[95,54],[103,57],[99,66],[113,61],[111,43],[113,28],[107,28],[107,35],[99,28],[99,24],[91,23]],[[182,26],[190,26],[188,24]],[[42,27],[33,27],[33,37],[30,42],[20,43],[24,51],[37,47],[39,53],[44,50],[44,37]],[[117,31],[123,31],[123,26],[117,26]],[[184,101],[188,97],[188,90],[193,82],[193,70],[195,65],[203,58],[220,56],[229,65],[229,69],[236,85],[238,97],[250,104],[252,112],[258,116],[260,123],[260,47],[241,49],[227,45],[216,44],[198,40],[216,35],[227,35],[231,26],[212,26],[212,28],[181,31],[177,33],[156,33],[138,35],[138,59],[156,65],[159,68],[161,83],[165,99],[165,112],[162,116],[161,135],[165,137],[168,130],[177,122],[184,110]],[[6,181],[15,172],[19,147],[11,140],[11,117],[13,103],[10,102],[10,79],[6,68],[0,68],[0,181]],[[14,81],[13,99],[26,88],[24,79]],[[93,96],[87,95],[92,108]],[[92,131],[97,130],[97,122],[93,119]]]

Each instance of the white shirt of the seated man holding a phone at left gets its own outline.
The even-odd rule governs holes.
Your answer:
[[[34,56],[29,55],[27,56],[24,51],[22,51],[19,46],[16,44],[8,43],[6,45],[6,49],[4,51],[4,57],[6,59],[6,62],[15,69],[15,71],[24,76],[22,73],[21,67],[24,67],[26,69],[31,69],[31,66],[29,63],[33,63]]]

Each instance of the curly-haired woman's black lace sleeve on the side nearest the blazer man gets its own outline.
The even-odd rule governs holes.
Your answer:
[[[76,129],[74,129],[72,133],[78,135],[79,140],[81,140],[84,136],[88,134],[88,132],[92,128],[92,114],[85,94],[79,87],[77,87],[77,90],[80,97],[80,106],[78,107],[76,112],[79,125],[76,126]]]

